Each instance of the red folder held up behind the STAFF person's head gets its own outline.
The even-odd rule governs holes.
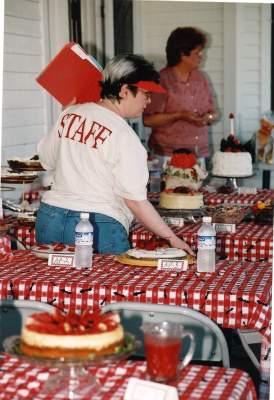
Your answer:
[[[76,97],[76,103],[100,100],[102,71],[89,55],[73,41],[65,44],[59,53],[36,77],[62,105]]]

